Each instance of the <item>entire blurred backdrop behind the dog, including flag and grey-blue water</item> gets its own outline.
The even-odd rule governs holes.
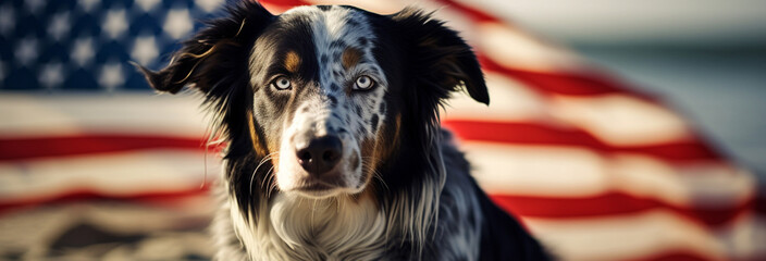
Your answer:
[[[0,1],[0,259],[210,257],[200,99],[127,62],[165,65],[223,2]],[[492,97],[444,125],[561,259],[766,259],[763,0],[261,2],[438,10]]]

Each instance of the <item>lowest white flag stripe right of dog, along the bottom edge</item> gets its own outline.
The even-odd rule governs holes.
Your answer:
[[[626,260],[687,250],[725,260],[726,246],[705,227],[666,211],[605,217],[523,219],[561,260]]]

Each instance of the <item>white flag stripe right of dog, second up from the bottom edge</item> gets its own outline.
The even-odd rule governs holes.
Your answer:
[[[675,206],[736,206],[753,197],[754,177],[722,162],[669,165],[639,154],[605,158],[588,149],[464,142],[489,192],[589,197],[609,191]]]

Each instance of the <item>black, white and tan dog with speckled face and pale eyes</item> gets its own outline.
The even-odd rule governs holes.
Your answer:
[[[160,71],[196,89],[225,140],[217,260],[547,260],[440,127],[465,89],[489,104],[471,48],[417,9],[271,14],[228,4]]]

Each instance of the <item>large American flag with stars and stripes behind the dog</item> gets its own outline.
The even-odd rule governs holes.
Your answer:
[[[220,162],[203,146],[199,99],[152,95],[127,62],[162,66],[222,2],[0,3],[0,259],[72,253],[66,244],[69,252],[45,249],[61,248],[61,240],[46,240],[69,238],[57,234],[67,224],[17,228],[83,210],[44,211],[50,206],[108,199],[209,216],[214,202],[200,185],[217,177]],[[393,13],[408,4],[261,2],[273,13],[320,3]],[[417,4],[438,10],[437,17],[475,48],[492,97],[489,108],[457,97],[443,125],[457,134],[495,202],[560,259],[766,259],[766,201],[755,177],[660,98],[497,18],[486,5]],[[107,209],[86,212],[134,213]],[[114,225],[114,234],[163,229],[145,222],[168,221],[137,216],[153,217]],[[173,257],[209,254],[195,250]],[[116,254],[97,256],[110,251]]]

